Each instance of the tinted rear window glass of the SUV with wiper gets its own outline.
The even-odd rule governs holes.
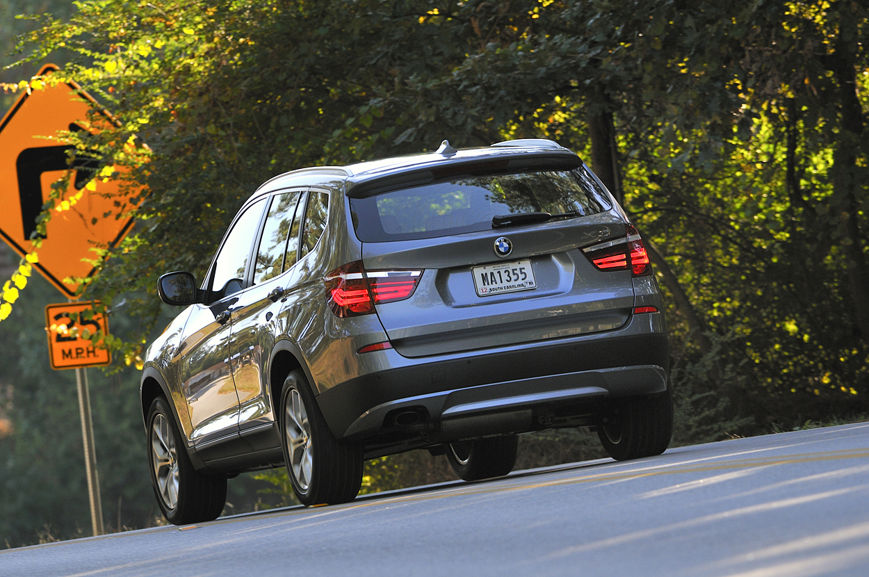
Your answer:
[[[461,177],[351,198],[356,236],[389,242],[491,230],[492,218],[524,212],[594,215],[610,208],[586,167]]]

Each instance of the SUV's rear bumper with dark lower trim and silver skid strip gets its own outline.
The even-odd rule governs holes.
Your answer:
[[[364,438],[405,407],[446,423],[545,403],[652,395],[668,381],[667,335],[662,321],[649,319],[655,316],[634,315],[606,335],[415,360],[329,388],[317,401],[335,438]]]

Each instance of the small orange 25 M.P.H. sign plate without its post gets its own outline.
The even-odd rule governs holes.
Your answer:
[[[49,360],[51,368],[95,367],[111,363],[111,353],[99,348],[90,340],[81,338],[88,331],[90,335],[102,330],[109,334],[109,320],[105,315],[94,313],[85,319],[82,313],[91,310],[95,302],[62,302],[45,307],[45,330],[49,335]],[[78,315],[73,323],[71,315]],[[76,330],[77,329],[77,330]]]

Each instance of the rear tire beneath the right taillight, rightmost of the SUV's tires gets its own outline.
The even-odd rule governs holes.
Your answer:
[[[616,461],[661,454],[672,436],[673,395],[669,390],[619,401],[607,422],[598,427],[600,443]]]

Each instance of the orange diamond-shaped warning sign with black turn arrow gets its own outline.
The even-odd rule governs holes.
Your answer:
[[[38,74],[56,70],[54,64],[46,64]],[[131,218],[114,216],[116,201],[129,199],[121,184],[95,178],[95,159],[76,158],[70,167],[73,147],[56,138],[59,130],[89,126],[91,109],[110,122],[76,83],[44,84],[41,90],[22,94],[0,121],[0,236],[19,255],[33,250],[30,235],[36,230],[43,203],[49,200],[51,183],[67,170],[74,170],[63,196],[67,202],[57,207],[61,210],[54,209],[34,265],[63,295],[73,299],[78,284],[66,280],[93,275],[93,265],[83,261],[96,257],[90,249],[116,246],[132,226]],[[107,213],[112,216],[105,217]]]

